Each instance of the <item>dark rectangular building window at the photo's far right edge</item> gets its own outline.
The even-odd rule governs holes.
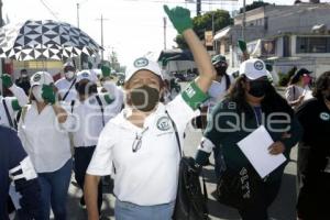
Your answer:
[[[297,54],[330,53],[330,36],[297,36]]]

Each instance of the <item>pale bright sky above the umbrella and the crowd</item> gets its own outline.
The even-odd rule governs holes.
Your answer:
[[[188,0],[194,2],[194,0]],[[253,0],[246,0],[251,3]],[[105,58],[114,51],[119,62],[127,65],[148,52],[160,53],[164,48],[163,4],[169,8],[182,6],[196,15],[196,3],[185,0],[2,0],[3,19],[11,23],[32,20],[58,20],[77,26],[79,3],[79,28],[99,44],[103,16]],[[202,0],[202,11],[238,10],[243,0]],[[293,4],[294,0],[265,0],[276,4]],[[167,19],[166,48],[175,46],[176,31]]]

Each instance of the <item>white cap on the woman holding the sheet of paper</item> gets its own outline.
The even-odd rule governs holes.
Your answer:
[[[241,64],[241,75],[245,75],[251,80],[267,76],[266,65],[258,58],[250,58]]]

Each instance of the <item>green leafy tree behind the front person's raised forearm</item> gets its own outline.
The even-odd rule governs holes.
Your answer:
[[[229,12],[226,10],[210,11],[202,15],[195,16],[193,18],[193,29],[199,36],[199,38],[204,40],[205,31],[212,31],[212,20],[215,25],[215,33],[232,24],[232,19],[230,18]],[[179,48],[185,50],[188,47],[182,35],[177,35],[174,41],[177,43]]]

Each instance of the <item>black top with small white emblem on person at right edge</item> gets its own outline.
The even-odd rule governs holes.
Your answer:
[[[330,156],[330,110],[323,100],[311,99],[297,109],[297,117],[304,128],[301,141],[310,147],[305,172],[323,170]]]

